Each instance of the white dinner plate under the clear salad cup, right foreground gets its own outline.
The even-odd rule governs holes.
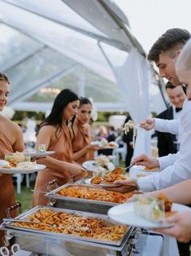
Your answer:
[[[119,223],[126,225],[132,225],[135,227],[145,227],[145,228],[156,228],[156,227],[171,227],[171,224],[163,224],[160,222],[152,222],[145,218],[141,218],[135,214],[132,203],[125,203],[123,205],[116,205],[108,210],[107,214],[110,218],[114,219]],[[185,210],[190,210],[186,205],[172,204],[172,210],[182,212]]]

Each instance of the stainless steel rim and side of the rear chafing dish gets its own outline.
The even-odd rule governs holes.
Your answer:
[[[103,190],[102,188],[97,188],[95,186],[91,186],[87,184],[77,184],[77,183],[64,184],[63,186],[56,188],[51,192],[46,193],[46,196],[49,197],[50,202],[54,202],[55,207],[72,209],[72,210],[82,210],[82,211],[98,213],[98,214],[107,214],[107,211],[111,207],[118,205],[117,203],[106,202],[106,201],[95,201],[95,200],[88,200],[83,198],[60,196],[58,192],[63,188],[90,188],[93,190]]]

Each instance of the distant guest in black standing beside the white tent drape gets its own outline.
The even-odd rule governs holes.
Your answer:
[[[126,122],[128,122],[129,120],[132,120],[132,117],[130,117],[130,115],[128,114],[128,116],[126,117],[126,119],[124,121],[124,124]],[[125,157],[125,166],[126,167],[130,166],[132,156],[133,156],[133,152],[134,152],[132,137],[133,137],[133,130],[132,129],[130,129],[127,134],[124,133],[124,135],[123,135],[123,141],[127,144],[127,154],[126,154],[126,157]]]

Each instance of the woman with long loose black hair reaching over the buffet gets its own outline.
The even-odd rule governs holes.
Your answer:
[[[54,100],[53,108],[45,121],[42,121],[37,144],[46,144],[46,150],[55,151],[53,155],[38,160],[47,166],[37,174],[33,205],[46,205],[48,200],[41,192],[46,192],[46,183],[58,180],[59,186],[70,181],[84,170],[72,160],[72,143],[67,122],[76,116],[79,107],[78,96],[71,90],[62,90]]]

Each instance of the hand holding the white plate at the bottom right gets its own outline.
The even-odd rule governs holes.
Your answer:
[[[169,218],[165,218],[164,224],[174,223],[173,227],[156,229],[168,236],[174,236],[180,242],[189,242],[191,240],[191,210],[177,213]]]

